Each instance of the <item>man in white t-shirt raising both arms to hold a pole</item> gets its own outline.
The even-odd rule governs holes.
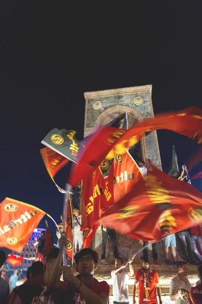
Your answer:
[[[120,258],[115,258],[115,269],[111,272],[114,304],[129,304],[128,280],[129,277],[134,276],[134,270],[131,264],[132,261],[133,257],[129,258],[127,263],[124,263]],[[123,269],[127,264],[129,264],[130,271],[124,272]]]

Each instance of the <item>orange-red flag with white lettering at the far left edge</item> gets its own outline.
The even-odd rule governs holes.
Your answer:
[[[6,198],[0,205],[0,247],[21,252],[45,214],[37,207]]]

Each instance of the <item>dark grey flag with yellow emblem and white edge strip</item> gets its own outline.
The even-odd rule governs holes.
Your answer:
[[[80,140],[75,138],[75,134],[76,131],[55,128],[45,136],[41,143],[68,160],[76,162]]]

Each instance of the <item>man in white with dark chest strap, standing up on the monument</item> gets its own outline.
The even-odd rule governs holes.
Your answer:
[[[79,215],[79,209],[73,209],[73,221],[74,221],[74,256],[77,253],[77,246],[79,251],[83,249],[83,232],[81,229],[81,215]]]

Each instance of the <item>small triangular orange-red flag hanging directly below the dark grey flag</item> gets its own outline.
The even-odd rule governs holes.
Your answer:
[[[56,151],[45,147],[40,149],[40,153],[47,169],[49,176],[51,176],[52,180],[54,181],[54,176],[58,171],[60,171],[67,163],[70,162],[66,157],[62,156],[61,154],[57,153]]]

